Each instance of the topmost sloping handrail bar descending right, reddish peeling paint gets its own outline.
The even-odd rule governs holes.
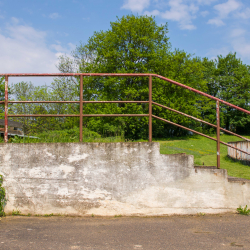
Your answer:
[[[173,80],[171,80],[171,79],[168,79],[168,78],[163,77],[163,76],[160,76],[160,75],[154,75],[154,76],[157,77],[157,78],[159,78],[159,79],[162,79],[162,80],[164,80],[164,81],[167,81],[167,82],[173,83],[173,84],[175,84],[175,85],[177,85],[177,86],[180,86],[180,87],[182,87],[182,88],[184,88],[184,89],[188,89],[188,90],[190,90],[190,91],[193,91],[194,93],[197,93],[197,94],[206,96],[206,97],[208,97],[208,98],[210,98],[210,99],[212,99],[212,100],[219,101],[220,103],[223,103],[223,104],[225,104],[225,105],[227,105],[227,106],[229,106],[229,107],[238,109],[238,110],[240,110],[240,111],[242,111],[242,112],[244,112],[244,113],[250,115],[250,111],[248,111],[248,110],[246,110],[246,109],[243,109],[243,108],[240,108],[240,107],[238,107],[238,106],[236,106],[236,105],[233,105],[233,104],[231,104],[231,103],[229,103],[229,102],[223,101],[223,100],[221,100],[221,99],[219,99],[219,98],[216,98],[216,97],[214,97],[214,96],[211,96],[211,95],[209,95],[209,94],[207,94],[207,93],[204,93],[204,92],[202,92],[202,91],[200,91],[200,90],[191,88],[191,87],[189,87],[189,86],[187,86],[187,85],[184,85],[184,84],[182,84],[182,83],[173,81]]]

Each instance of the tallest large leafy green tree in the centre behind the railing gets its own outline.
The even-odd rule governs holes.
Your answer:
[[[203,66],[200,60],[184,51],[171,51],[167,37],[167,24],[158,26],[153,17],[128,15],[111,22],[108,31],[95,32],[88,43],[77,47],[73,60],[62,57],[59,64],[61,72],[101,73],[156,73],[173,80],[198,88],[206,89]],[[197,100],[188,92],[159,79],[153,80],[153,99],[164,105],[189,111],[198,116]],[[98,78],[84,77],[85,100],[148,100],[147,78]],[[84,113],[148,113],[148,105],[109,104],[84,105]],[[195,126],[195,123],[179,115],[170,114],[159,107],[154,112],[161,117],[174,119],[177,123]],[[125,131],[129,138],[147,138],[147,118],[89,118],[85,126],[95,129],[107,128],[112,124]],[[98,125],[96,125],[98,124]],[[99,132],[99,131],[98,131]],[[172,129],[168,124],[154,120],[154,136],[185,133]]]

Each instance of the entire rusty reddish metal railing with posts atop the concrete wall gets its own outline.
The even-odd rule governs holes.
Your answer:
[[[210,140],[216,141],[217,142],[217,168],[220,168],[220,144],[226,145],[226,146],[231,147],[231,148],[233,148],[235,150],[238,150],[240,152],[243,152],[245,154],[250,155],[250,152],[246,152],[246,151],[244,151],[242,149],[236,148],[236,147],[234,147],[234,146],[232,146],[232,145],[230,145],[228,143],[222,142],[220,140],[220,130],[222,130],[222,131],[224,131],[226,133],[232,134],[232,135],[237,136],[237,137],[239,137],[241,139],[250,141],[249,139],[247,139],[247,138],[245,138],[243,136],[240,136],[240,135],[238,135],[236,133],[233,133],[231,131],[228,131],[228,130],[220,127],[220,103],[225,104],[225,105],[227,105],[229,107],[232,107],[234,109],[237,109],[237,110],[239,110],[241,112],[244,112],[244,113],[246,113],[248,115],[250,115],[250,111],[245,110],[243,108],[240,108],[240,107],[238,107],[236,105],[233,105],[233,104],[231,104],[229,102],[226,102],[226,101],[221,100],[219,98],[216,98],[214,96],[211,96],[209,94],[206,94],[206,93],[204,93],[202,91],[199,91],[197,89],[191,88],[191,87],[189,87],[187,85],[184,85],[184,84],[181,84],[179,82],[168,79],[166,77],[157,75],[157,74],[143,74],[143,73],[141,73],[141,74],[136,74],[136,73],[128,73],[128,74],[126,74],[126,73],[125,74],[124,73],[33,74],[32,73],[32,74],[0,74],[0,76],[5,76],[5,100],[0,101],[0,104],[4,104],[4,106],[5,106],[5,127],[4,127],[4,142],[5,143],[8,142],[8,117],[79,117],[80,118],[80,124],[79,124],[80,142],[82,142],[83,117],[116,117],[116,116],[128,116],[128,117],[144,116],[145,117],[146,116],[146,117],[149,117],[149,123],[148,123],[148,126],[149,126],[149,135],[148,135],[149,142],[152,142],[152,118],[159,119],[161,121],[164,121],[164,122],[167,122],[167,123],[172,124],[174,126],[177,126],[177,127],[182,128],[182,129],[188,130],[188,131],[193,132],[195,134],[204,136],[204,137],[206,137],[206,138],[208,138]],[[80,77],[79,101],[9,101],[8,100],[8,80],[9,80],[9,77],[29,77],[29,76],[30,77],[34,77],[34,76],[37,76],[37,77],[62,77],[62,76],[64,76],[64,77],[69,77],[69,76]],[[84,101],[83,100],[83,77],[87,77],[87,76],[99,76],[99,77],[148,77],[148,79],[149,79],[148,101]],[[172,84],[177,85],[177,86],[179,86],[181,88],[184,88],[184,89],[188,89],[188,90],[190,90],[192,92],[195,92],[195,93],[197,93],[199,95],[206,96],[207,98],[210,98],[210,99],[216,101],[216,125],[152,101],[152,78],[153,77],[162,79],[162,80],[164,80],[166,82],[172,83]],[[11,104],[11,103],[79,103],[80,111],[79,111],[79,114],[46,114],[46,115],[44,115],[44,114],[31,114],[31,115],[15,114],[14,115],[14,114],[8,114],[8,105]],[[83,114],[83,103],[148,103],[149,111],[148,111],[148,114]],[[212,126],[212,127],[216,128],[216,139],[211,137],[211,136],[200,133],[198,131],[187,128],[185,126],[179,125],[177,123],[174,123],[174,122],[171,122],[171,121],[168,121],[166,119],[163,119],[163,118],[160,118],[158,116],[153,115],[152,114],[152,105],[157,105],[159,107],[165,108],[165,109],[170,110],[172,112],[178,113],[180,115],[186,116],[188,118],[191,118],[193,120],[196,120],[198,122],[202,122],[202,123],[204,123],[206,125],[209,125],[209,126]]]

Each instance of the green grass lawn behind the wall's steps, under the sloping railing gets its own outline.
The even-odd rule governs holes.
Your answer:
[[[215,138],[215,136],[213,136]],[[250,138],[249,136],[245,136]],[[236,136],[221,135],[221,141],[240,141]],[[195,165],[216,166],[216,142],[202,136],[192,136],[168,141],[158,140],[161,154],[186,153],[194,155]],[[227,146],[221,144],[221,168],[227,169],[228,175],[250,179],[250,166],[235,162],[227,157]]]

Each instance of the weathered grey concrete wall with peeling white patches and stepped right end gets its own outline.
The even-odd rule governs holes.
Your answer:
[[[229,183],[225,170],[194,169],[191,155],[161,155],[158,143],[0,147],[7,213],[218,213],[250,203],[250,183]]]

